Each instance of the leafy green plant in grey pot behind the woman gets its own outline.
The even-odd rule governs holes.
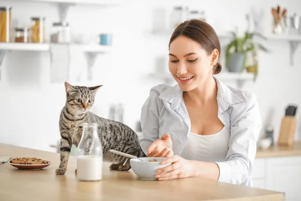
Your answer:
[[[245,68],[254,73],[254,80],[258,72],[257,49],[267,52],[259,43],[253,42],[255,33],[245,32],[244,37],[237,37],[232,32],[233,40],[226,46],[226,66],[229,72],[242,72]],[[260,34],[256,34],[262,37]],[[264,37],[262,37],[264,38]]]

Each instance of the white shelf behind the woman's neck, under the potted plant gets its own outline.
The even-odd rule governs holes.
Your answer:
[[[216,78],[220,80],[227,80],[227,81],[236,81],[237,87],[241,88],[245,81],[253,81],[254,74],[248,72],[236,73],[236,72],[222,72],[217,75],[214,75]],[[175,80],[170,73],[152,73],[150,77],[163,79],[166,83],[173,83]]]

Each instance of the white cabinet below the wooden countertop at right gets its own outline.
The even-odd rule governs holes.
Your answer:
[[[301,156],[258,158],[253,187],[285,193],[286,201],[301,200]]]

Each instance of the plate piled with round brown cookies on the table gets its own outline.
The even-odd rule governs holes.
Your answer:
[[[13,158],[9,163],[19,169],[42,169],[52,164],[51,161],[36,157]]]

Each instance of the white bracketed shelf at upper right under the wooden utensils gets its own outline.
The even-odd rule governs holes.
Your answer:
[[[293,57],[297,50],[299,43],[301,43],[301,35],[289,35],[289,34],[271,34],[267,35],[266,38],[270,41],[287,41],[289,44],[290,51],[290,65],[293,65]]]

